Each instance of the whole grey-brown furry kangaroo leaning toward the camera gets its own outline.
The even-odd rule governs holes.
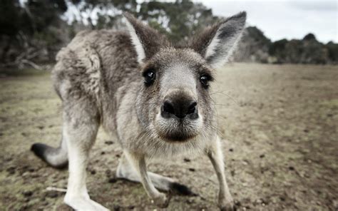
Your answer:
[[[188,187],[148,172],[145,160],[204,154],[219,181],[217,205],[232,210],[210,85],[239,41],[246,13],[180,46],[132,15],[124,17],[128,31],[82,31],[58,53],[51,78],[63,105],[61,145],[35,143],[31,150],[54,168],[68,165],[64,202],[75,210],[108,210],[86,187],[88,153],[100,125],[123,149],[116,177],[141,182],[159,207],[168,197],[158,190]]]

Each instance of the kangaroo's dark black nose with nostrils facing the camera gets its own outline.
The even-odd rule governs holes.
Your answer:
[[[180,118],[186,116],[190,119],[198,118],[198,108],[196,101],[191,101],[185,98],[178,98],[177,100],[166,99],[161,108],[161,115],[163,118]]]

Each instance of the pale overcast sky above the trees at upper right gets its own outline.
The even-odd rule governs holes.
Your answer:
[[[312,32],[319,41],[338,42],[338,1],[222,1],[199,0],[217,16],[247,11],[247,25],[257,26],[265,36],[303,38]]]

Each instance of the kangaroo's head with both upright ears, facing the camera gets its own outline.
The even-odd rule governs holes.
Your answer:
[[[239,40],[245,12],[205,29],[180,47],[130,14],[125,16],[143,78],[136,105],[146,132],[167,143],[207,138],[215,132],[210,98],[214,69],[227,61]]]

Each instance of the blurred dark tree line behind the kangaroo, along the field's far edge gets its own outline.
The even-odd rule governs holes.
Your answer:
[[[136,0],[1,0],[0,66],[53,63],[58,50],[83,29],[121,29],[128,11],[180,43],[219,21],[201,3]],[[270,41],[248,27],[233,61],[262,63],[337,63],[336,43],[320,43],[314,35],[302,40]]]

